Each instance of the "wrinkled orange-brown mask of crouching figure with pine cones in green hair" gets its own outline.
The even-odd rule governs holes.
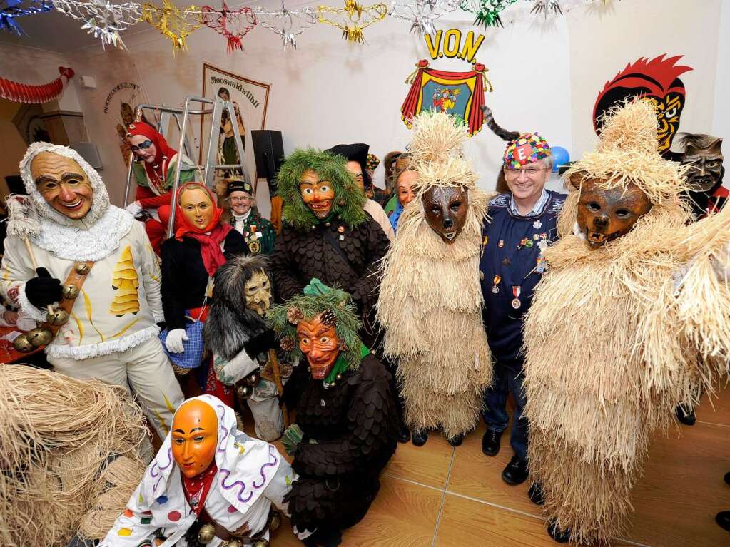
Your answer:
[[[324,312],[314,319],[304,319],[296,325],[299,349],[307,356],[312,378],[326,379],[339,356],[339,338],[334,328],[334,316]]]

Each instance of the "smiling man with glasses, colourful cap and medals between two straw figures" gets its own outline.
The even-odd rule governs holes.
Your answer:
[[[490,201],[483,228],[480,278],[494,385],[485,392],[487,431],[482,451],[487,456],[499,452],[502,432],[507,429],[507,395],[511,393],[515,413],[510,444],[515,455],[502,472],[507,484],[521,484],[529,475],[528,426],[522,416],[526,403],[522,330],[534,287],[545,271],[545,248],[557,238],[558,212],[565,199],[545,190],[552,166],[550,145],[537,133],[522,133],[510,141],[502,167],[509,192]],[[530,494],[537,498],[538,492],[531,489]]]

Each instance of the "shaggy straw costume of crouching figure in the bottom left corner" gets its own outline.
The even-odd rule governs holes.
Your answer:
[[[0,544],[103,538],[145,470],[146,434],[123,388],[0,366]]]

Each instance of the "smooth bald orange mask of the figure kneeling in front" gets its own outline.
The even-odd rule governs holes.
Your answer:
[[[183,475],[193,478],[204,473],[215,458],[218,444],[218,416],[201,400],[189,400],[172,419],[172,457]]]

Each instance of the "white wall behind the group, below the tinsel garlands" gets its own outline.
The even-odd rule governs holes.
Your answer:
[[[577,7],[546,22],[527,15],[514,23],[511,10],[503,15],[505,28],[487,31],[472,26],[472,14],[454,12],[437,26],[486,34],[477,59],[489,69],[494,92],[485,101],[496,120],[507,129],[539,131],[575,158],[590,150],[595,139],[591,112],[604,82],[642,56],[685,53],[683,61],[694,67],[683,76],[688,101],[681,130],[730,132],[721,101],[730,93],[728,4],[730,0],[622,0],[606,7]],[[125,38],[128,51],[91,47],[68,55],[77,74],[96,78],[95,90],[74,93],[116,203],[126,168],[115,121],[102,112],[107,94],[119,82],[135,82],[145,89],[145,100],[177,105],[186,95],[201,93],[204,62],[272,84],[266,128],[283,132],[287,153],[307,145],[364,141],[382,159],[410,140],[400,119],[409,89],[404,80],[429,53],[423,38],[408,33],[410,24],[404,20],[388,18],[366,28],[367,44],[348,44],[337,28],[315,25],[298,37],[296,51],[283,50],[279,36],[255,28],[244,39],[245,52],[231,55],[225,40],[207,28],[188,38],[188,52],[175,55],[158,31],[144,23],[135,28],[147,30]],[[26,63],[22,65],[14,63],[14,69],[23,72]],[[466,61],[446,58],[431,66],[469,69]],[[47,71],[41,72],[46,77]],[[503,150],[502,141],[487,128],[466,145],[482,187],[493,187]],[[382,174],[380,168],[376,182]]]

